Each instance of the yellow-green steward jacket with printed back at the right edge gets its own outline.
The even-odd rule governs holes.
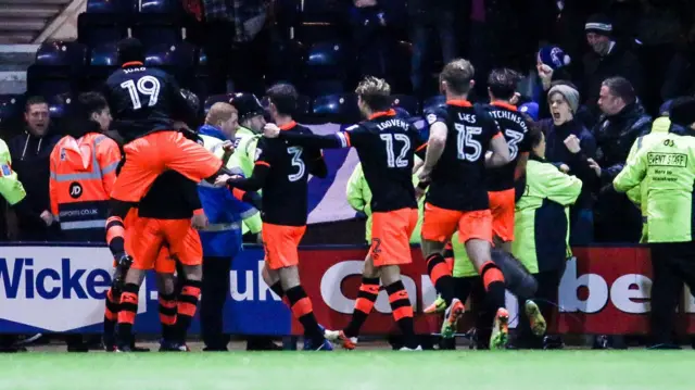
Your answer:
[[[693,240],[693,184],[695,183],[695,137],[653,134],[629,164],[614,179],[619,192],[647,186],[647,242]]]

